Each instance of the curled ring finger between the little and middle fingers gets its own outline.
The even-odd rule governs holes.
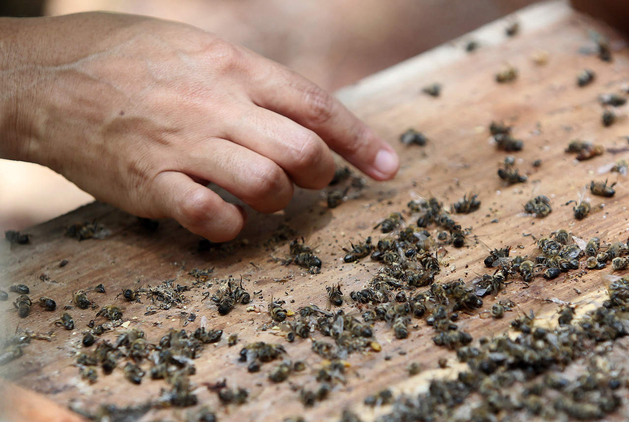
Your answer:
[[[276,212],[291,201],[292,182],[280,166],[251,149],[221,138],[186,148],[179,169],[228,190],[260,212]]]

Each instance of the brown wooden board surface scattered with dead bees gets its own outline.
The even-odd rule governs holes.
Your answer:
[[[362,406],[360,403],[367,394],[384,386],[391,386],[395,392],[421,391],[431,377],[456,374],[459,366],[455,364],[454,352],[436,347],[431,340],[432,328],[423,322],[411,328],[406,340],[396,340],[389,328],[377,324],[375,336],[382,344],[382,351],[350,355],[347,383],[335,387],[328,401],[304,409],[297,399],[298,392],[291,386],[313,385],[313,372],[321,358],[311,352],[311,340],[298,339],[287,344],[277,335],[281,331],[260,330],[270,322],[265,310],[271,297],[282,298],[289,308],[298,310],[308,303],[325,307],[325,287],[333,283],[342,283],[346,294],[362,288],[379,265],[369,259],[344,264],[341,247],[369,235],[377,238],[379,233],[373,230],[376,222],[391,212],[404,210],[406,203],[418,195],[435,195],[450,204],[464,193],[479,194],[481,210],[457,216],[457,221],[463,227],[472,227],[472,233],[487,245],[511,245],[516,253],[520,252],[520,245],[524,248],[521,253],[532,249],[531,238],[523,237],[523,233],[540,235],[566,228],[584,239],[605,231],[610,240],[627,237],[629,214],[625,204],[629,183],[625,179],[620,179],[615,197],[604,201],[594,198],[595,205],[604,202],[605,207],[586,220],[574,220],[572,205],[563,204],[576,200],[581,187],[593,178],[609,177],[610,181],[618,178],[616,173],[598,175],[597,170],[626,153],[608,152],[593,160],[577,162],[574,156],[564,153],[564,148],[574,138],[601,143],[606,148],[627,146],[622,138],[629,134],[626,107],[617,110],[620,117],[615,125],[603,127],[597,96],[625,87],[629,52],[615,32],[575,13],[564,2],[538,4],[515,16],[521,23],[521,32],[513,38],[504,36],[506,20],[498,21],[338,93],[401,154],[402,167],[395,180],[370,182],[359,197],[333,210],[325,207],[320,192],[303,190],[296,193],[284,212],[259,215],[249,209],[250,218],[243,234],[225,250],[209,252],[198,252],[199,237],[175,222],[161,222],[157,233],[147,234],[138,227],[135,217],[109,205],[92,203],[26,230],[32,235],[30,245],[10,247],[4,242],[0,246],[0,287],[25,283],[31,288],[31,297],[47,295],[61,307],[70,304],[72,291],[104,283],[107,293],[90,293],[89,298],[98,306],[109,303],[126,306],[124,319],[130,327],[145,330],[151,342],[157,342],[169,327],[181,327],[179,311],[199,315],[186,328],[198,327],[200,316],[206,316],[209,327],[225,333],[221,342],[208,345],[196,360],[197,373],[191,377],[192,381],[200,384],[226,378],[228,385],[247,387],[251,394],[243,406],[224,407],[218,403],[216,394],[199,388],[199,399],[215,409],[220,420],[282,420],[300,414],[309,421],[336,419],[346,407],[359,411],[365,419],[374,418],[384,409],[374,413]],[[616,50],[612,63],[601,62],[594,53],[580,51],[594,49],[588,36],[590,29],[610,36]],[[479,40],[481,46],[474,53],[465,53],[464,45],[472,38]],[[532,55],[541,50],[547,53],[548,61],[536,65]],[[496,84],[494,75],[504,63],[518,68],[519,77],[511,84]],[[577,88],[576,75],[583,68],[593,69],[596,80],[587,87]],[[421,94],[421,87],[433,82],[443,84],[442,95],[433,98]],[[525,142],[525,149],[515,156],[518,168],[529,176],[528,183],[506,187],[496,176],[506,154],[489,142],[487,125],[492,120],[515,125],[516,138]],[[408,127],[423,131],[430,139],[428,145],[420,148],[399,144],[399,134]],[[542,160],[542,166],[533,168],[532,162],[537,159]],[[545,219],[521,216],[523,203],[539,194],[551,198],[552,214]],[[111,235],[101,241],[82,242],[64,237],[68,225],[91,220],[108,227]],[[287,253],[286,242],[270,245],[266,242],[284,222],[298,230],[306,242],[318,246],[317,253],[323,261],[320,274],[303,273],[298,267],[282,266],[272,260]],[[447,249],[449,266],[439,274],[440,281],[457,278],[469,281],[477,274],[486,273],[482,259],[487,251],[481,244],[469,242],[462,249]],[[62,259],[69,263],[60,268]],[[213,276],[221,279],[242,275],[249,280],[245,283],[248,291],[262,291],[253,297],[253,305],[261,311],[247,312],[246,306],[238,306],[229,315],[218,316],[216,306],[201,301],[203,291],[213,292],[215,287],[188,292],[185,309],[160,311],[151,316],[144,315],[149,303],[128,305],[115,299],[122,288],[155,285],[169,278],[191,284],[192,277],[187,273],[192,268],[214,268]],[[550,318],[557,311],[557,304],[547,299],[556,298],[586,309],[586,305],[600,303],[604,298],[601,274],[591,272],[581,278],[562,274],[553,281],[535,278],[528,288],[520,282],[509,284],[498,298],[486,298],[484,308],[499,299],[510,299],[518,305],[520,313],[535,310],[540,317]],[[352,311],[353,305],[347,304],[345,308]],[[65,406],[75,401],[87,408],[100,403],[126,406],[154,398],[166,386],[164,382],[148,379],[142,386],[133,386],[121,371],[99,376],[93,386],[80,379],[73,366],[73,355],[86,323],[94,318],[94,310],[71,310],[77,327],[72,332],[53,325],[58,312],[48,313],[38,306],[25,319],[18,318],[11,301],[0,303],[0,312],[6,333],[13,332],[18,325],[35,332],[55,333],[52,342],[33,340],[23,357],[0,367],[0,371],[16,384],[59,404]],[[475,312],[463,315],[459,324],[475,338],[498,335],[508,329],[515,314],[493,320],[480,318]],[[114,338],[119,331],[120,328],[103,337]],[[231,333],[238,333],[240,339],[235,347],[226,344]],[[238,352],[243,345],[258,340],[284,344],[289,357],[304,359],[308,370],[294,374],[282,384],[267,380],[267,372],[274,364],[263,365],[261,372],[249,374],[246,365],[238,362]],[[447,357],[451,367],[438,369],[440,357]],[[420,362],[425,371],[409,379],[406,365],[411,361]],[[181,419],[186,414],[187,409],[153,411],[145,418]]]

